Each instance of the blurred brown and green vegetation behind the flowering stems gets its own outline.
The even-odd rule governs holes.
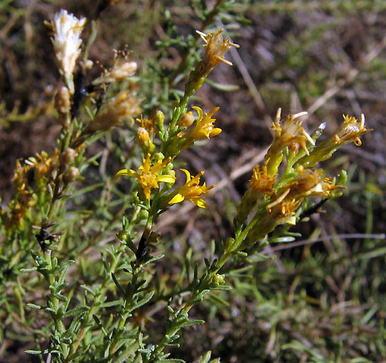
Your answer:
[[[123,1],[101,15],[90,52],[91,59],[108,67],[112,48],[128,44],[141,70],[137,87],[146,100],[143,112],[150,114],[173,104],[182,89],[200,46],[195,30],[222,26],[240,44],[227,55],[234,66],[218,66],[197,95],[206,111],[220,106],[221,136],[182,153],[188,169],[193,174],[206,170],[207,184],[216,183],[218,189],[209,210],[182,205],[159,221],[157,232],[166,241],[160,252],[169,258],[168,265],[159,263],[160,283],[178,279],[188,248],[192,261],[202,254],[209,258],[229,236],[232,212],[250,170],[263,159],[278,107],[283,115],[308,111],[304,125],[310,131],[326,122],[331,135],[342,113],[365,113],[367,127],[375,131],[362,138],[362,147],[349,145],[328,164],[331,173],[348,169],[344,196],[299,223],[294,232],[303,237],[298,241],[267,248],[265,257],[276,259],[241,263],[227,281],[233,290],[213,294],[194,309],[198,319],[209,319],[184,331],[177,356],[191,362],[211,349],[223,362],[384,361],[386,243],[380,234],[386,230],[386,3],[218,2],[223,11],[211,14],[216,1]],[[2,203],[12,195],[15,160],[50,150],[60,129],[51,104],[59,77],[43,24],[60,8],[91,19],[96,3],[0,0]],[[91,75],[98,73],[100,67],[94,66]],[[96,183],[106,182],[121,167],[132,153],[131,140],[130,130],[116,129],[88,149],[100,165],[91,167],[78,186],[90,186],[90,193],[71,202],[73,210],[82,203],[95,211],[92,216],[85,212],[87,233],[100,245],[114,241],[121,211],[119,203],[110,201],[109,190]],[[157,308],[146,312],[148,322],[138,319],[149,324],[150,336],[161,335],[164,317]],[[23,340],[3,332],[0,360],[32,359],[25,358],[28,339]]]

